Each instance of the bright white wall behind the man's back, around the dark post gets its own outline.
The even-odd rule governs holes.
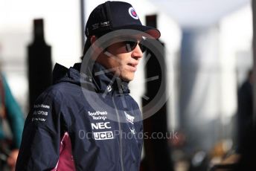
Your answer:
[[[27,45],[33,39],[33,19],[42,18],[45,41],[52,47],[52,61],[69,67],[81,55],[80,1],[1,0],[0,61],[1,69],[13,94],[27,112]]]

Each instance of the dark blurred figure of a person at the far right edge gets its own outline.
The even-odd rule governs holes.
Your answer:
[[[253,118],[254,73],[249,70],[245,82],[238,90],[237,98],[237,154],[236,170],[255,170],[255,124]]]

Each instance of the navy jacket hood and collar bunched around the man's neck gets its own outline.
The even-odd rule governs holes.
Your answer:
[[[91,91],[108,92],[115,90],[119,94],[129,93],[128,82],[106,73],[106,68],[97,62],[89,66],[86,73],[81,73],[81,63],[75,63],[71,68],[56,64],[53,71],[53,83],[68,82],[83,86]]]

